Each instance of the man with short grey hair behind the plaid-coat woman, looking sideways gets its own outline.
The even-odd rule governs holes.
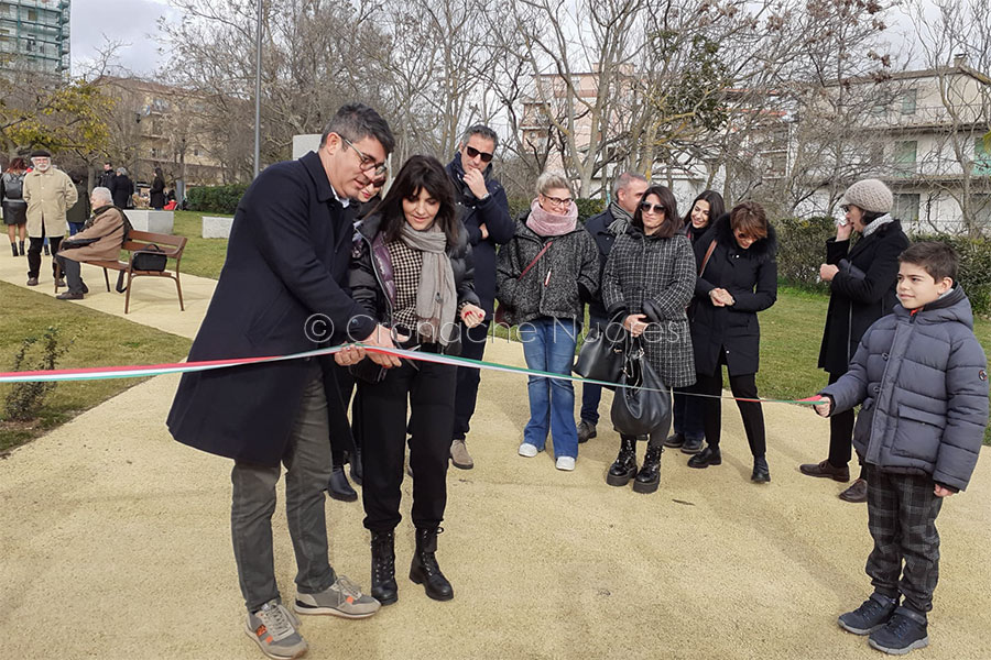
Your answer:
[[[606,210],[592,216],[585,223],[585,229],[596,240],[599,248],[599,282],[606,271],[606,262],[612,251],[617,237],[627,232],[640,198],[647,189],[646,177],[624,172],[612,185],[612,201]],[[609,323],[602,296],[596,296],[588,304],[588,332],[605,332]],[[596,425],[599,424],[599,400],[602,398],[602,386],[585,383],[581,385],[581,420],[578,422],[578,442],[587,442],[596,437]]]

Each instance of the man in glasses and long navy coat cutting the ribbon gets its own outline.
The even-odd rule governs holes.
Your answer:
[[[259,175],[235,213],[227,261],[190,362],[288,355],[326,341],[392,345],[342,287],[350,198],[384,169],[392,147],[385,121],[367,106],[349,105],[330,120],[317,153]],[[344,365],[363,356],[351,348],[336,360]],[[379,607],[339,579],[327,558],[323,491],[331,458],[322,376],[313,359],[187,373],[168,414],[176,440],[235,460],[231,535],[247,629],[269,657],[294,658],[307,648],[275,584],[271,518],[280,462],[297,565],[294,609],[355,618]]]

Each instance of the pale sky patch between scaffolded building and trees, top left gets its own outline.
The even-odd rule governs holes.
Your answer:
[[[181,19],[166,0],[73,0],[73,72],[96,56],[104,35],[129,44],[119,51],[120,65],[137,74],[150,75],[163,64],[156,41],[159,18]]]

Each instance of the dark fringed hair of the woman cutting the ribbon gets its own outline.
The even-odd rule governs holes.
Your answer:
[[[454,248],[458,242],[461,222],[458,220],[450,177],[447,176],[447,170],[444,169],[440,161],[434,156],[410,156],[410,160],[403,164],[399,174],[395,175],[392,186],[389,187],[389,193],[375,208],[375,212],[382,215],[379,231],[384,234],[386,241],[398,240],[400,230],[406,222],[406,216],[403,213],[403,199],[414,198],[424,189],[440,202],[434,224],[439,227],[447,237],[447,246]]]

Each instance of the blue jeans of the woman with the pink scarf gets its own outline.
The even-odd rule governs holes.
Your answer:
[[[526,366],[555,374],[570,374],[580,324],[569,319],[538,318],[520,323],[520,341]],[[547,431],[554,439],[555,458],[578,458],[575,425],[575,388],[570,381],[530,376],[530,421],[523,442],[543,450]]]

